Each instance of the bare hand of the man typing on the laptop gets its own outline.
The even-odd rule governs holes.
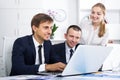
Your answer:
[[[66,64],[62,62],[54,63],[54,64],[46,64],[45,70],[46,71],[63,71]]]

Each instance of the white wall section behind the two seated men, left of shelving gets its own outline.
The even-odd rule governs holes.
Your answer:
[[[66,28],[70,24],[77,24],[77,0],[0,0],[0,56],[4,36],[31,34],[30,22],[33,15],[39,12],[48,13],[48,10],[65,12],[64,20],[55,20],[59,28],[54,37],[55,40],[64,39]]]

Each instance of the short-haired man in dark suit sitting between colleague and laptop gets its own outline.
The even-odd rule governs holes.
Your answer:
[[[55,44],[52,46],[50,61],[51,63],[63,62],[67,64],[71,58],[71,54],[74,53],[81,38],[81,28],[77,25],[71,25],[68,27],[65,33],[65,42]]]

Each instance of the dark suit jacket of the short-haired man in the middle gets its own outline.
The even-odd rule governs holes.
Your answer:
[[[75,49],[78,45],[76,45]],[[65,42],[52,45],[50,57],[50,63],[63,62],[67,64]]]

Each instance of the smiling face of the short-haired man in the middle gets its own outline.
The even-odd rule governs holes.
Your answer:
[[[76,46],[81,37],[81,31],[76,31],[72,28],[69,29],[68,33],[65,34],[65,39],[70,48]]]

